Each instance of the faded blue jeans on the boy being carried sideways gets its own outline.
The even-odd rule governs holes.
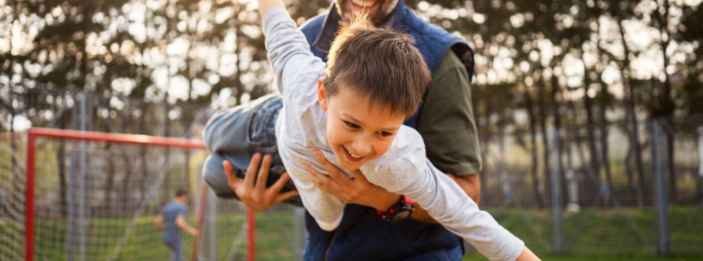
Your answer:
[[[203,131],[203,140],[209,151],[205,160],[202,177],[214,193],[221,198],[237,198],[229,187],[222,162],[228,160],[234,167],[237,177],[243,179],[254,153],[273,157],[266,186],[273,185],[285,172],[276,146],[276,119],[283,101],[278,94],[268,94],[249,103],[213,115]],[[258,167],[258,166],[257,166]],[[257,168],[258,173],[258,168]],[[281,192],[295,190],[288,182]],[[299,196],[286,203],[302,206]]]

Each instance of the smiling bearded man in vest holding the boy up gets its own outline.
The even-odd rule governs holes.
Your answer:
[[[416,46],[433,79],[425,94],[425,105],[406,125],[422,134],[427,158],[432,164],[453,177],[478,203],[480,180],[477,173],[481,170],[481,160],[470,102],[472,50],[458,37],[415,16],[402,0],[339,0],[301,28],[316,56],[326,60],[340,18],[352,11],[364,11],[376,25],[391,25],[415,37]],[[254,155],[246,177],[256,174],[255,169],[261,161],[259,155]],[[271,161],[270,156],[264,157],[257,180],[267,179]],[[224,163],[224,171],[234,177],[231,163]],[[387,215],[387,210],[405,203],[403,196],[389,193],[363,179],[333,175],[335,170],[328,169],[328,172],[330,177],[323,177],[327,180],[318,186],[354,204],[347,205],[342,223],[331,232],[318,227],[314,219],[306,215],[309,238],[304,250],[305,260],[461,259],[461,239],[436,224],[418,206],[409,210],[410,219],[389,222],[379,216],[379,213]],[[272,173],[276,174],[273,170]],[[271,182],[269,179],[268,183]],[[264,188],[264,184],[254,185],[251,180],[231,179],[229,185],[247,207],[261,211],[295,195],[294,192],[278,193],[286,182],[288,176],[283,174],[269,189]]]

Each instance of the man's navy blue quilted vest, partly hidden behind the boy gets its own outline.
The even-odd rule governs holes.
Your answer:
[[[327,61],[330,43],[338,29],[339,15],[335,4],[327,13],[302,25],[311,51]],[[389,15],[387,23],[415,37],[415,46],[423,54],[427,68],[434,74],[446,51],[454,51],[473,75],[473,51],[459,37],[418,18],[400,0]],[[415,128],[418,113],[405,122]],[[304,260],[460,260],[463,243],[439,224],[427,224],[414,219],[386,222],[375,209],[348,204],[342,223],[335,231],[324,231],[306,212],[305,225],[309,237],[305,243]]]

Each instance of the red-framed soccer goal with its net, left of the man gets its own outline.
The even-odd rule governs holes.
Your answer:
[[[299,257],[299,210],[270,210],[254,227],[243,205],[204,186],[207,154],[200,141],[157,136],[0,134],[0,260],[168,260],[154,221],[179,189],[200,230],[181,233],[184,260]]]

